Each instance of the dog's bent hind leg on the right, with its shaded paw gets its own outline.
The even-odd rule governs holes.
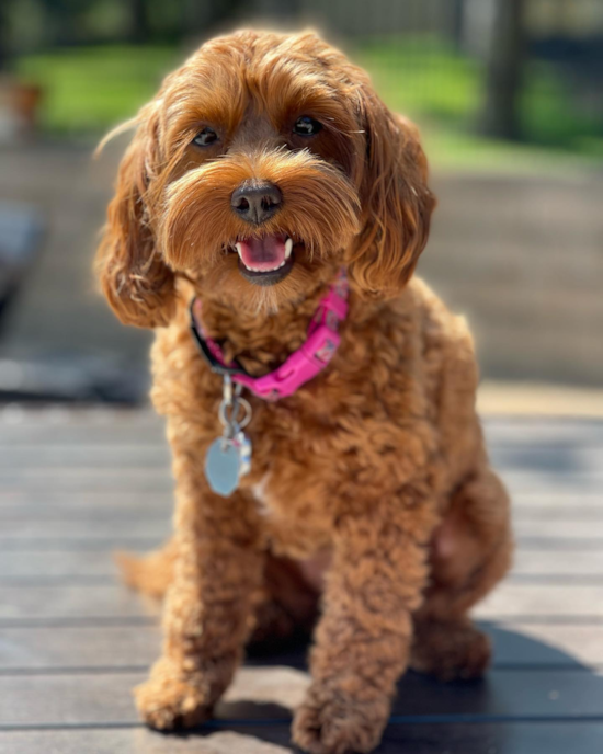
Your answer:
[[[482,675],[490,642],[467,614],[502,579],[511,553],[509,499],[485,467],[455,491],[433,538],[431,585],[414,615],[413,670],[443,681]]]

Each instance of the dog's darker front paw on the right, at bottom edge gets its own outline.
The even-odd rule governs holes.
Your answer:
[[[371,752],[382,738],[389,699],[354,698],[314,684],[293,721],[293,740],[309,754]]]

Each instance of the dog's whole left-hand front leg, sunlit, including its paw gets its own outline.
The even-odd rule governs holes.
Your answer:
[[[143,718],[159,729],[193,726],[212,713],[240,661],[262,574],[246,499],[215,495],[198,453],[177,454],[174,467],[177,557],[163,653],[135,692]]]

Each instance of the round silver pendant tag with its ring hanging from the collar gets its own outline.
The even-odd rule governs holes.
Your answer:
[[[224,377],[219,420],[224,434],[215,439],[205,456],[205,478],[209,487],[223,498],[229,498],[239,485],[239,479],[251,469],[251,441],[242,431],[251,419],[251,407],[240,397],[241,386],[232,390],[229,375]],[[239,409],[243,409],[238,421]]]

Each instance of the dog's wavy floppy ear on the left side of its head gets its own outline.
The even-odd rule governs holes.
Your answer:
[[[160,161],[159,118],[144,107],[120,171],[115,196],[96,254],[96,273],[111,307],[124,324],[166,325],[175,306],[173,272],[155,244],[147,191]],[[111,137],[111,135],[110,135]],[[110,138],[109,137],[109,138]]]

